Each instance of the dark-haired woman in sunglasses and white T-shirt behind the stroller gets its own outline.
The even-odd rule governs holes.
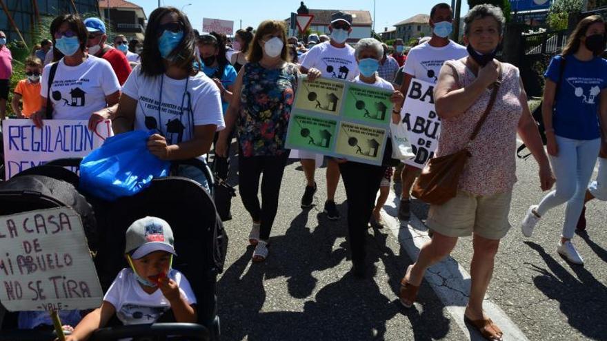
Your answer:
[[[211,79],[194,68],[196,40],[190,21],[177,8],[150,14],[141,64],[123,86],[112,127],[116,134],[155,130],[148,149],[163,160],[186,160],[206,154],[222,130],[221,99]],[[208,190],[206,176],[181,165],[178,174]]]

